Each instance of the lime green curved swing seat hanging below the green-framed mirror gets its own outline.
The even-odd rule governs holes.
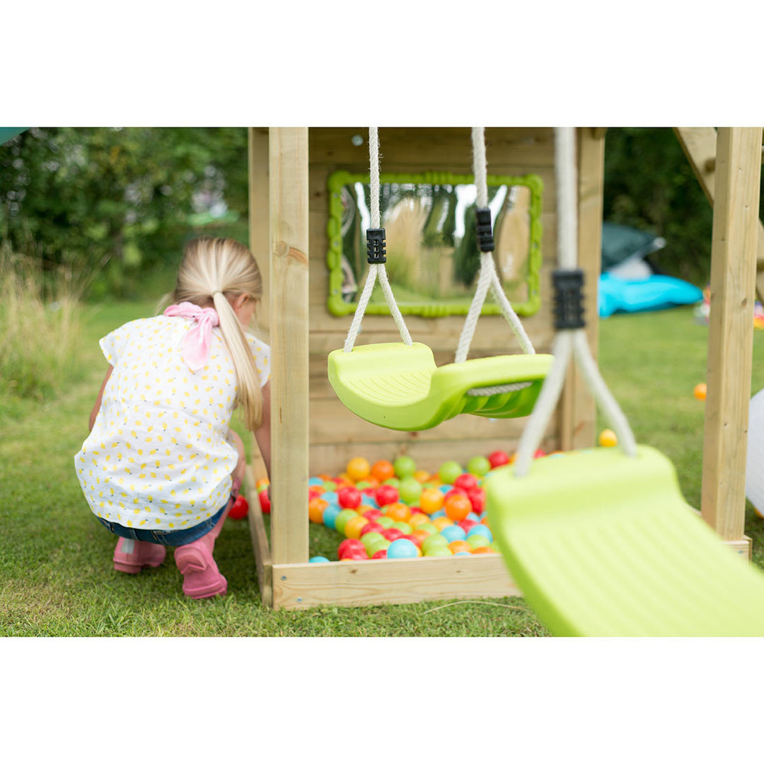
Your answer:
[[[381,427],[422,430],[458,414],[496,419],[527,416],[536,403],[552,356],[500,355],[436,366],[421,342],[359,345],[329,354],[329,382],[353,413]],[[469,395],[482,387],[526,383],[520,390]]]

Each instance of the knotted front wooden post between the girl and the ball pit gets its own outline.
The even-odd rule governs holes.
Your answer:
[[[308,562],[308,128],[270,128],[270,544]]]

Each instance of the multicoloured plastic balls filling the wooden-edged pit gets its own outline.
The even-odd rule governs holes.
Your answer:
[[[539,449],[535,458],[542,457]],[[339,560],[497,554],[483,483],[513,461],[494,451],[471,458],[466,468],[446,461],[430,473],[409,456],[373,465],[352,458],[342,474],[309,478],[309,520],[338,533]]]

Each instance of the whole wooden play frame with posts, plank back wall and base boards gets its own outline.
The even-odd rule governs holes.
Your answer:
[[[704,130],[709,128],[681,128]],[[680,128],[677,128],[679,131]],[[678,133],[679,134],[679,133]],[[351,141],[364,138],[363,146]],[[578,128],[578,251],[589,294],[601,263],[604,128]],[[326,308],[326,178],[335,169],[367,171],[364,128],[250,128],[250,246],[264,277],[261,334],[271,347],[270,544],[254,484],[264,467],[254,444],[246,491],[257,577],[264,604],[299,609],[464,597],[521,596],[500,555],[414,560],[308,562],[309,474],[332,471],[351,455],[393,458],[407,453],[434,469],[444,458],[466,460],[509,448],[523,420],[504,420],[484,435],[481,417],[461,416],[436,430],[445,435],[384,431],[363,422],[332,395],[326,355],[342,347],[350,319]],[[552,343],[548,294],[556,263],[554,151],[551,128],[487,128],[490,172],[522,174],[542,168],[545,199],[542,309],[523,325],[539,352]],[[680,135],[681,139],[681,135]],[[471,172],[469,128],[381,128],[384,168]],[[683,144],[684,145],[684,144]],[[686,150],[686,149],[685,149]],[[750,556],[744,535],[745,459],[753,348],[753,303],[759,241],[761,128],[720,128],[714,160],[711,324],[701,513],[717,533]],[[688,153],[694,166],[697,157]],[[696,172],[698,172],[696,167]],[[269,253],[267,256],[265,253]],[[596,300],[587,301],[588,337],[596,358]],[[462,316],[408,316],[413,337],[451,361]],[[482,327],[482,329],[481,329]],[[494,331],[491,331],[491,330]],[[472,355],[517,352],[500,316],[482,316]],[[396,342],[390,316],[366,316],[363,342]],[[606,371],[607,377],[607,371]],[[482,422],[482,424],[481,424]],[[374,428],[372,432],[369,428]],[[594,402],[578,372],[568,375],[547,450],[585,448],[595,440]],[[432,461],[423,463],[432,451]],[[331,462],[331,464],[329,464]],[[740,469],[740,465],[743,468]]]

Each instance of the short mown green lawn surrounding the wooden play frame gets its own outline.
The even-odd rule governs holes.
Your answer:
[[[89,314],[80,378],[23,418],[0,419],[0,636],[543,636],[520,599],[323,607],[274,613],[261,604],[246,521],[229,521],[215,549],[228,596],[191,601],[171,555],[139,576],[112,569],[115,539],[79,489],[73,455],[105,372],[98,338],[151,303],[112,303]],[[639,442],[674,462],[687,500],[699,506],[707,329],[691,310],[613,316],[601,324],[600,363]],[[764,332],[756,332],[753,391],[764,387]],[[748,509],[746,532],[761,565],[764,520]],[[310,553],[338,537],[312,526]],[[442,607],[448,605],[448,607]]]

